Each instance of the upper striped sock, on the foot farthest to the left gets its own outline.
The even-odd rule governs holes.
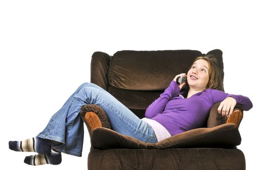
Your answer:
[[[39,137],[32,137],[22,141],[9,141],[9,149],[18,152],[49,154],[51,152],[51,141]]]

